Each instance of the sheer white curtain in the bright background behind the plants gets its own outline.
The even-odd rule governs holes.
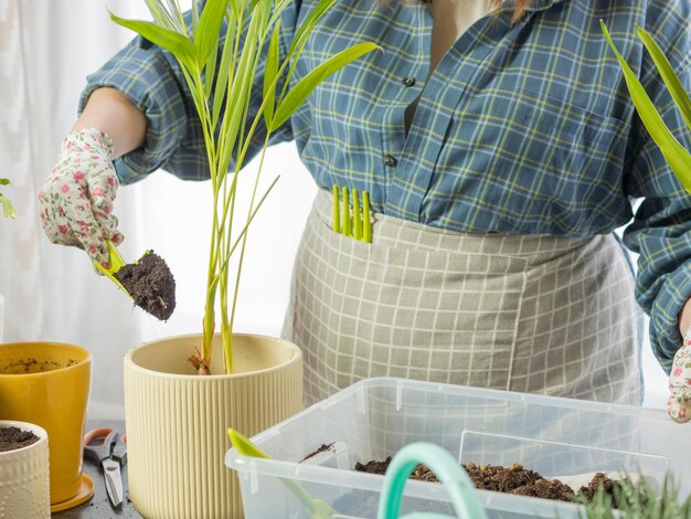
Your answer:
[[[86,254],[51,244],[36,216],[35,193],[76,117],[88,73],[131,38],[107,9],[148,18],[141,0],[0,0],[0,177],[17,220],[0,219],[0,294],[4,341],[72,342],[93,353],[89,417],[123,417],[123,356],[141,341],[199,332],[208,261],[209,182],[182,182],[157,172],[123,187],[115,203],[134,261],[152,248],[169,264],[178,307],[168,322],[139,309]],[[256,163],[249,165],[247,177]],[[274,148],[265,184],[280,180],[252,225],[236,330],[279,335],[290,271],[316,188],[291,144]]]

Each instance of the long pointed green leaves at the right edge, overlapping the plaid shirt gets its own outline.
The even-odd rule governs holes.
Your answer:
[[[650,100],[650,97],[646,93],[646,89],[636,77],[636,74],[631,67],[626,63],[616,45],[609,36],[605,22],[599,22],[603,33],[609,42],[609,46],[614,51],[621,70],[624,71],[624,78],[628,86],[631,99],[636,106],[636,110],[640,116],[644,125],[646,126],[650,137],[658,145],[660,151],[665,156],[665,160],[669,163],[670,168],[684,187],[684,189],[691,193],[691,155],[679,141],[674,138],[669,128],[665,125],[662,117],[656,109],[655,105]],[[665,82],[669,93],[674,100],[674,104],[679,108],[687,126],[691,130],[691,99],[689,94],[683,88],[679,76],[672,70],[667,56],[656,43],[652,36],[644,29],[637,28],[638,38],[642,41],[644,45],[650,53],[655,65]]]

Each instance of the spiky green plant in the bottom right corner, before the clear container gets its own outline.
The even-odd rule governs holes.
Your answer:
[[[580,517],[586,519],[691,519],[691,496],[680,500],[678,486],[669,473],[661,488],[653,487],[642,476],[636,481],[625,476],[615,481],[612,495],[600,489],[584,506]]]

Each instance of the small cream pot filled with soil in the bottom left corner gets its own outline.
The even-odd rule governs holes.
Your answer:
[[[39,441],[0,453],[0,517],[38,519],[51,517],[47,433],[39,425],[1,420],[0,428],[31,431]]]

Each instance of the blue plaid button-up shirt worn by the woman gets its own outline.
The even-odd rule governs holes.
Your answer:
[[[281,52],[313,3],[296,0],[286,11]],[[329,77],[273,141],[294,139],[319,187],[366,189],[375,211],[438,227],[592,236],[632,219],[624,240],[640,253],[637,298],[669,369],[680,346],[677,316],[691,296],[691,197],[641,126],[599,20],[689,146],[635,29],[652,33],[691,89],[691,2],[533,0],[519,23],[510,18],[507,2],[479,20],[425,81],[426,6],[339,0],[295,78],[357,42],[384,52]],[[148,118],[146,146],[116,163],[123,183],[158,168],[209,178],[201,127],[170,55],[138,38],[89,76],[82,106],[98,86],[118,88]],[[405,108],[421,94],[406,135]],[[253,152],[263,140],[257,133]],[[636,214],[632,199],[642,199]]]

